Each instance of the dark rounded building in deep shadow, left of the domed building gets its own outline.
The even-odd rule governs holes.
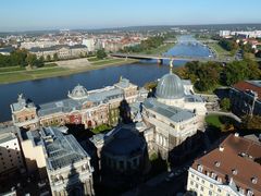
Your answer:
[[[94,135],[90,142],[97,150],[102,184],[129,186],[148,172],[147,143],[135,124],[121,124],[107,134]]]

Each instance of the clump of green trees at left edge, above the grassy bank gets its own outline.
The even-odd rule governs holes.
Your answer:
[[[32,54],[25,49],[14,50],[10,56],[0,54],[0,66],[42,66],[44,61],[44,58],[37,59],[36,54]]]

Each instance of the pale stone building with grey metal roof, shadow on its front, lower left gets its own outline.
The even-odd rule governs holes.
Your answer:
[[[95,195],[90,156],[61,127],[20,131],[27,172],[48,177],[53,196]]]

